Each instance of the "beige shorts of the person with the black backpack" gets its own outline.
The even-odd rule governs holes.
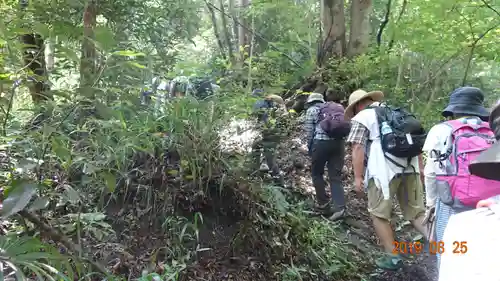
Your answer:
[[[406,187],[406,188],[405,188]],[[390,198],[384,200],[382,189],[375,186],[373,179],[368,182],[368,212],[390,220],[392,217],[392,200],[394,195],[405,220],[415,220],[425,213],[424,194],[419,174],[396,175],[389,183]]]

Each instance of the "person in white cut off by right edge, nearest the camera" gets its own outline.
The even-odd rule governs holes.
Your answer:
[[[483,151],[469,165],[469,171],[475,176],[497,181],[500,185],[500,100],[493,107],[489,125],[494,132],[496,143]],[[499,193],[500,194],[500,193]],[[480,200],[476,210],[461,212],[450,217],[443,235],[443,242],[460,245],[462,255],[454,251],[444,252],[439,269],[440,281],[470,280],[480,277],[482,280],[500,280],[498,263],[492,255],[498,253],[500,237],[500,195]],[[465,243],[464,243],[465,242]],[[464,246],[466,248],[464,248]],[[487,258],[485,258],[487,257]]]

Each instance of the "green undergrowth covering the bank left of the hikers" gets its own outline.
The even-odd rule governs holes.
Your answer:
[[[89,249],[115,236],[106,217],[115,202],[147,209],[154,218],[150,224],[169,237],[168,245],[153,250],[156,266],[144,265],[135,278],[185,280],[200,253],[208,251],[200,233],[209,215],[193,210],[230,194],[225,208],[239,214],[239,230],[227,245],[235,254],[260,256],[268,278],[357,278],[361,258],[340,238],[339,226],[310,218],[304,202],[289,191],[248,179],[245,156],[221,150],[219,132],[235,117],[248,117],[253,99],[185,98],[161,113],[133,100],[54,104],[51,117],[37,127],[7,123],[0,178],[8,221],[0,241],[6,274],[18,280],[102,276]],[[177,153],[177,166],[166,159],[171,152]],[[158,254],[165,249],[169,254]],[[114,269],[108,273],[114,275],[107,280],[129,278]]]

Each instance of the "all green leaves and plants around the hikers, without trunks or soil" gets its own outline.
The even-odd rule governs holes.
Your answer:
[[[460,85],[482,88],[488,103],[500,93],[495,44],[500,18],[493,1],[392,1],[380,46],[373,36],[366,54],[335,58],[322,69],[316,69],[315,60],[325,30],[316,0],[255,1],[236,8],[222,1],[225,12],[238,14],[246,31],[256,31],[247,32],[248,46],[238,46],[239,25],[227,18],[221,26],[222,14],[215,11],[215,32],[227,39],[222,50],[205,1],[99,2],[91,38],[93,96],[78,88],[86,1],[29,2],[25,10],[17,1],[0,4],[5,15],[0,19],[2,218],[22,234],[0,237],[0,259],[10,270],[20,269],[14,270],[19,280],[32,273],[50,280],[73,277],[71,269],[85,262],[80,258],[85,251],[70,251],[66,257],[48,246],[53,237],[46,239],[39,226],[26,222],[24,211],[86,250],[92,242],[115,236],[105,212],[116,201],[137,208],[128,205],[130,194],[158,218],[169,243],[154,252],[161,272],[148,268],[135,277],[177,280],[208,250],[201,248],[199,237],[203,216],[188,219],[176,213],[178,197],[208,200],[213,189],[224,193],[226,182],[252,186],[249,194],[242,193],[244,203],[238,201],[250,206],[250,211],[243,208],[248,217],[240,234],[232,237],[241,240],[238,247],[245,248],[248,237],[266,244],[262,252],[282,280],[354,278],[360,270],[355,263],[362,261],[337,235],[341,229],[305,216],[303,204],[288,192],[249,182],[242,176],[243,159],[222,151],[221,130],[234,119],[249,118],[256,99],[248,92],[256,87],[286,92],[305,80],[325,82],[345,98],[356,88],[380,89],[390,103],[410,108],[427,127],[440,120],[448,93]],[[385,9],[385,3],[374,3],[372,34]],[[50,82],[54,100],[36,105],[30,98],[34,83],[27,81],[33,73],[22,61],[27,46],[19,41],[33,32],[52,46],[55,60],[49,75],[38,77]],[[139,105],[145,81],[180,74],[211,76],[222,91],[203,101],[168,101],[159,115]],[[17,79],[23,82],[14,89]],[[167,159],[172,153],[178,165]],[[40,241],[24,238],[27,234]],[[166,258],[160,257],[162,251]],[[82,268],[74,274],[83,277],[90,271]]]

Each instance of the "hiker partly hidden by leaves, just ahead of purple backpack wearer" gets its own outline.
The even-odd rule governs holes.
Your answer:
[[[263,92],[254,91],[253,95],[261,93]],[[253,115],[257,118],[261,135],[254,141],[250,155],[252,171],[267,172],[270,170],[276,184],[281,186],[284,186],[285,181],[276,163],[276,148],[283,134],[282,119],[285,113],[283,98],[278,95],[268,95],[254,104]],[[262,153],[266,165],[260,166]]]

